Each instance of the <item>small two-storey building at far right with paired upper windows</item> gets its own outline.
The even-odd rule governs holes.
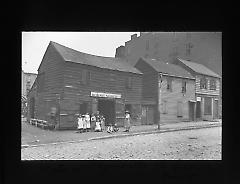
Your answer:
[[[213,120],[219,116],[221,77],[202,64],[176,58],[173,64],[189,71],[196,79],[195,115],[197,120]]]

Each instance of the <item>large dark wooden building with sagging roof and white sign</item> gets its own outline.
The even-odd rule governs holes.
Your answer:
[[[141,123],[142,73],[118,58],[94,56],[50,42],[29,94],[29,116],[49,120],[57,114],[59,129],[77,127],[78,113],[100,111],[106,123],[123,125],[131,111]]]

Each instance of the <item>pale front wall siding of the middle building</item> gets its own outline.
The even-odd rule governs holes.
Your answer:
[[[178,122],[189,120],[189,100],[195,100],[195,81],[171,77],[172,91],[167,90],[167,79],[163,77],[161,85],[161,122]],[[182,93],[182,80],[187,82],[186,93]],[[164,101],[166,101],[166,113],[164,113]],[[182,117],[178,117],[178,102],[182,102]]]

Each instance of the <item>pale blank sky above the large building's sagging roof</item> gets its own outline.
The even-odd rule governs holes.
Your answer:
[[[50,41],[80,52],[115,57],[116,48],[140,32],[22,32],[22,70],[37,73]]]

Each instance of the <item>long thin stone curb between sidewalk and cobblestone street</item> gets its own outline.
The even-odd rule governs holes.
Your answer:
[[[47,146],[47,145],[57,145],[57,144],[66,144],[66,143],[80,143],[86,141],[94,141],[94,140],[104,140],[109,138],[121,138],[127,136],[136,136],[136,135],[147,135],[147,134],[156,134],[156,133],[165,133],[165,132],[175,132],[175,131],[183,131],[183,130],[193,130],[193,129],[202,129],[202,128],[212,128],[212,127],[219,127],[222,126],[221,124],[210,124],[210,125],[200,125],[200,126],[189,126],[189,127],[182,127],[182,128],[168,128],[164,130],[154,130],[154,131],[147,131],[147,132],[136,132],[130,134],[119,134],[119,135],[109,135],[109,136],[101,136],[101,137],[93,137],[86,140],[77,140],[77,141],[65,141],[65,142],[55,142],[55,143],[47,143],[47,144],[36,144],[36,145],[21,145],[21,148],[29,148],[29,147],[40,147],[40,146]]]

